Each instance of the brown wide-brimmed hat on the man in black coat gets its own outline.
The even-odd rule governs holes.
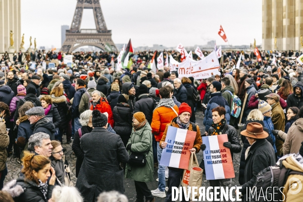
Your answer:
[[[263,130],[262,124],[256,122],[248,123],[246,130],[241,131],[241,135],[255,139],[264,139],[268,137],[268,133]]]

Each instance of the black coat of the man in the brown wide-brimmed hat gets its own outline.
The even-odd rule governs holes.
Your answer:
[[[252,189],[260,171],[275,165],[275,150],[272,145],[266,139],[257,139],[249,148],[247,159],[245,160],[244,184],[242,185],[242,189],[240,189],[244,198],[246,198],[246,187]]]

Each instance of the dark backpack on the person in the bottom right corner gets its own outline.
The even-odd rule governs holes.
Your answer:
[[[288,176],[293,174],[303,175],[303,173],[285,168],[282,161],[283,160],[280,160],[280,166],[270,166],[257,175],[255,184],[250,192],[255,195],[254,197],[252,197],[252,194],[250,195],[251,202],[262,202],[267,201],[267,199],[272,199],[270,201],[282,201],[283,198],[285,199],[285,196],[282,196],[283,194],[281,193],[283,189],[280,188],[284,187]],[[257,190],[256,192],[255,189]]]

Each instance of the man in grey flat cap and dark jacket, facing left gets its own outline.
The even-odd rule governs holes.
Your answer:
[[[55,139],[55,126],[54,124],[45,117],[45,112],[42,107],[34,107],[25,112],[28,116],[28,120],[32,125],[33,134],[43,132],[51,137],[51,140]]]

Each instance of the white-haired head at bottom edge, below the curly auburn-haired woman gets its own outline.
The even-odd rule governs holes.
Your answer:
[[[83,202],[79,191],[73,186],[56,186],[52,193],[53,202]]]

